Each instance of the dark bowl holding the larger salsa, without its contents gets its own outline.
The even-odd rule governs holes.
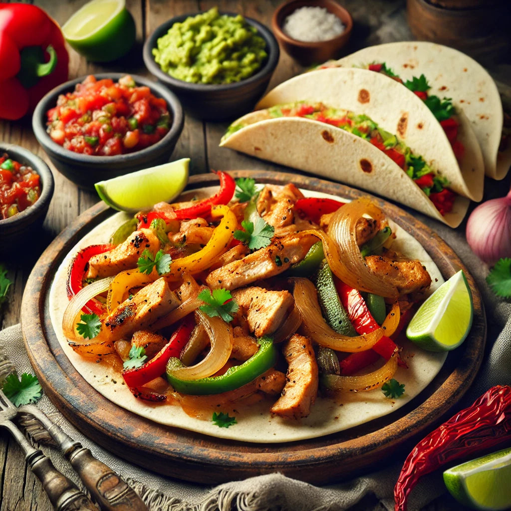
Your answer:
[[[118,81],[125,73],[100,73],[95,75],[98,80],[111,78]],[[166,87],[142,76],[131,75],[137,85],[146,85],[151,92],[167,101],[167,107],[172,117],[169,132],[156,144],[128,154],[115,156],[95,156],[75,153],[64,149],[52,140],[46,131],[47,111],[57,104],[60,94],[71,92],[77,83],[86,77],[82,76],[54,88],[37,104],[32,117],[32,128],[39,144],[50,157],[55,168],[69,180],[82,188],[92,189],[94,183],[110,179],[137,170],[161,165],[169,161],[172,151],[183,129],[183,111],[177,97]]]

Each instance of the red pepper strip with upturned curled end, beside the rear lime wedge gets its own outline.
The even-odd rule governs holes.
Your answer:
[[[211,197],[203,199],[190,207],[183,207],[180,210],[174,210],[172,212],[152,212],[152,213],[141,213],[137,215],[139,220],[138,228],[148,227],[155,218],[161,218],[165,221],[170,220],[189,220],[191,218],[205,217],[211,213],[211,206],[217,204],[228,204],[233,198],[234,191],[236,189],[235,180],[226,172],[213,171],[218,174],[220,178],[220,190]]]

